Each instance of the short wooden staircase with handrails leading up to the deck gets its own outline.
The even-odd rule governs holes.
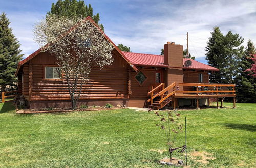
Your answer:
[[[173,100],[173,95],[175,94],[175,85],[176,83],[172,83],[168,87],[164,88],[164,83],[161,83],[156,88],[148,92],[147,94],[150,95],[150,99],[147,100],[147,102],[150,103],[148,108],[162,109],[170,103]]]

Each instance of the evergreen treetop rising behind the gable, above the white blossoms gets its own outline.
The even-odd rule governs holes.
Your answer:
[[[58,0],[55,4],[52,3],[51,11],[47,12],[47,16],[51,14],[82,18],[90,16],[104,30],[103,24],[99,24],[99,13],[93,15],[91,4],[87,6],[83,0]]]

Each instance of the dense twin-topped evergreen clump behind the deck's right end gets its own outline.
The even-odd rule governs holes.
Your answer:
[[[210,66],[220,71],[212,73],[209,78],[212,83],[234,83],[238,63],[243,55],[243,38],[229,31],[225,36],[219,27],[214,27],[207,42],[206,60]]]

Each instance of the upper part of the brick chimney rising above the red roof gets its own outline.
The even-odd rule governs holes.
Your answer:
[[[174,42],[164,44],[164,64],[171,67],[183,67],[183,46]]]

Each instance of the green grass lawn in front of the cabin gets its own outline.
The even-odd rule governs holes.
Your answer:
[[[256,104],[179,113],[187,117],[188,153],[216,158],[203,164],[188,157],[189,165],[256,166]],[[11,102],[0,103],[0,167],[162,167],[158,160],[168,152],[152,151],[166,149],[158,120],[131,109],[16,114]],[[179,140],[184,145],[183,134]]]

